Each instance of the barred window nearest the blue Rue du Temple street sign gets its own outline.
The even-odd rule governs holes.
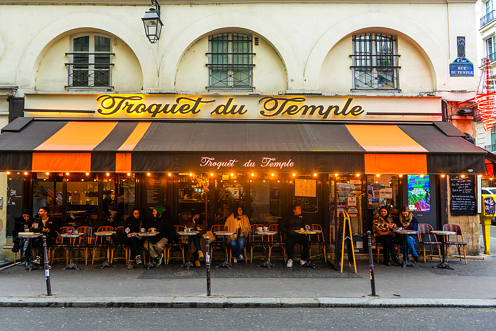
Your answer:
[[[399,90],[396,40],[383,33],[353,36],[353,89]]]

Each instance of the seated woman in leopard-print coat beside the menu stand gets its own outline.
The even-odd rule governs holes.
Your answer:
[[[382,257],[384,265],[390,266],[389,254],[394,263],[399,264],[400,260],[394,250],[394,233],[391,229],[396,228],[389,211],[386,207],[382,206],[378,213],[373,216],[373,231],[375,234],[375,241],[382,244]]]

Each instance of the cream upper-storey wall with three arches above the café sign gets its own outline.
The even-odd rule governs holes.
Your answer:
[[[365,1],[364,1],[365,2]],[[467,38],[467,58],[476,62],[476,22],[473,1],[461,3],[226,3],[226,4],[168,4],[162,9],[164,28],[157,44],[150,44],[144,36],[140,17],[147,5],[1,5],[0,31],[3,51],[0,54],[0,83],[19,85],[18,93],[29,89],[58,89],[66,67],[62,63],[47,62],[54,57],[61,60],[67,47],[58,45],[76,29],[105,31],[129,45],[118,46],[114,86],[116,91],[139,92],[204,89],[206,68],[194,71],[197,65],[184,64],[199,55],[187,55],[188,48],[195,49],[203,36],[219,29],[253,31],[273,51],[267,58],[262,52],[255,56],[257,66],[254,86],[257,90],[307,89],[349,93],[351,77],[350,59],[346,65],[333,71],[329,77],[329,60],[333,60],[338,45],[357,30],[390,29],[404,36],[401,42],[401,61],[409,66],[400,73],[400,87],[404,92],[418,93],[430,89],[473,90],[477,77],[449,77],[449,63],[456,57],[456,36]],[[295,15],[298,13],[298,15]],[[17,29],[9,27],[9,17],[36,17],[29,24]],[[419,19],[422,17],[422,19]],[[62,39],[61,37],[62,36]],[[56,41],[53,45],[51,43]],[[410,46],[407,41],[410,42]],[[413,42],[412,42],[413,41]],[[47,46],[53,46],[50,50]],[[117,50],[116,49],[116,50]],[[330,52],[330,50],[333,50]],[[413,50],[410,54],[408,50]],[[121,63],[129,52],[135,59]],[[56,54],[57,53],[57,54]],[[274,77],[273,68],[277,54],[284,65],[283,72]],[[346,54],[348,56],[349,54]],[[419,59],[418,56],[421,55]],[[327,58],[331,56],[330,58]],[[63,57],[63,56],[62,56]],[[191,58],[190,58],[191,57]],[[340,56],[342,58],[342,56]],[[408,61],[405,61],[407,59]],[[137,62],[137,64],[136,64]],[[129,70],[119,71],[119,67]],[[204,61],[202,61],[202,65]],[[342,66],[342,63],[338,64]],[[138,66],[141,70],[138,70]],[[419,71],[414,69],[419,66]],[[268,67],[269,70],[265,70]],[[426,82],[429,75],[431,80]],[[194,68],[194,70],[193,70]],[[54,72],[53,76],[48,75]],[[60,70],[60,72],[59,72]],[[336,70],[336,68],[334,69]],[[197,73],[202,72],[202,76]],[[420,75],[419,75],[420,72]],[[339,73],[339,74],[336,74]],[[345,74],[343,74],[345,73]],[[129,74],[131,77],[129,77]],[[141,74],[141,81],[134,75]],[[181,76],[179,76],[181,74]],[[196,75],[195,75],[196,74]],[[279,75],[281,74],[281,75]],[[184,76],[183,76],[184,75]],[[194,75],[195,84],[185,77]],[[281,76],[285,82],[281,84]],[[141,83],[142,82],[142,83]],[[405,85],[406,84],[406,85]],[[431,86],[432,85],[432,86]],[[281,88],[283,86],[283,88]]]

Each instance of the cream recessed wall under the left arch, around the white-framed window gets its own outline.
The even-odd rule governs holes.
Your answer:
[[[101,31],[91,31],[88,29],[85,32],[102,33]],[[68,57],[65,53],[70,52],[71,37],[79,35],[81,29],[71,31],[62,37],[58,37],[45,47],[40,54],[40,64],[36,72],[35,89],[40,91],[61,91],[67,85],[67,63]],[[112,85],[116,86],[117,91],[140,91],[143,86],[143,73],[141,66],[134,52],[123,40],[107,35],[113,41],[112,53]]]

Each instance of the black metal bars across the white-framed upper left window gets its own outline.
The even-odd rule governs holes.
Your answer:
[[[113,88],[111,86],[112,56],[114,53],[65,53],[69,56],[66,88]],[[90,63],[90,59],[94,59]]]

